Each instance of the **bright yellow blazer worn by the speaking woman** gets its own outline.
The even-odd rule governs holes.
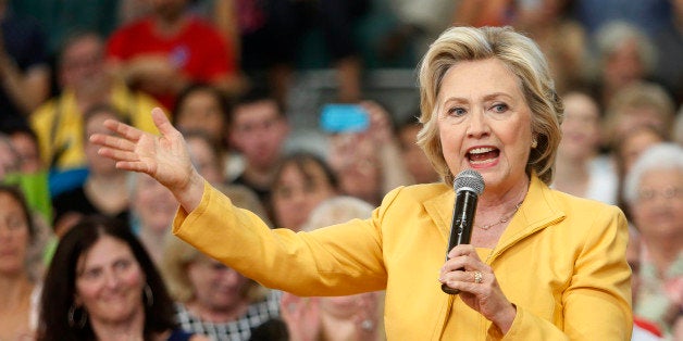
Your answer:
[[[389,340],[630,340],[631,270],[621,211],[549,189],[533,176],[494,250],[479,249],[517,316],[505,336],[440,290],[455,193],[444,184],[401,187],[367,220],[295,233],[271,230],[206,185],[173,231],[271,288],[299,295],[386,289]]]

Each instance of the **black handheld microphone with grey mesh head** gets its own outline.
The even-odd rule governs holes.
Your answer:
[[[448,250],[446,250],[446,261],[448,252],[459,244],[469,244],[472,238],[472,226],[474,226],[474,212],[476,211],[476,200],[484,191],[484,178],[473,169],[464,169],[458,174],[452,181],[456,191],[456,203],[452,210],[452,220],[450,222],[450,238]],[[452,289],[445,283],[442,291],[448,294],[458,294],[460,290]]]

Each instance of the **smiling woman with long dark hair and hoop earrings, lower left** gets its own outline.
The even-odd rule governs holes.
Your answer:
[[[38,340],[199,340],[145,248],[119,220],[88,216],[62,237],[45,279]]]

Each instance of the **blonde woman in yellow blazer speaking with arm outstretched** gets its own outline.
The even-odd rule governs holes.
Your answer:
[[[629,340],[626,222],[548,188],[562,104],[537,46],[509,27],[449,28],[421,63],[420,91],[418,143],[444,182],[397,188],[371,218],[312,232],[272,230],[233,206],[159,109],[160,136],[108,121],[117,136],[91,140],[171,189],[174,233],[245,276],[297,295],[386,289],[389,340]],[[471,242],[445,262],[463,169],[485,190]]]

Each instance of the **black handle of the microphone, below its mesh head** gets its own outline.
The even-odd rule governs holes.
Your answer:
[[[448,250],[446,250],[446,261],[448,252],[459,244],[469,244],[472,239],[472,227],[474,226],[474,211],[476,211],[476,193],[462,190],[456,193],[456,204],[454,205],[452,220],[450,222],[450,238],[448,239]],[[464,270],[464,268],[459,268]],[[442,291],[448,294],[458,294],[460,290],[442,285]]]

